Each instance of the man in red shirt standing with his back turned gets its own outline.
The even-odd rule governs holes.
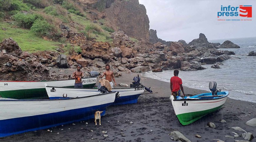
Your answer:
[[[178,77],[179,70],[175,69],[173,74],[174,76],[172,76],[170,79],[170,88],[172,91],[172,95],[174,96],[174,99],[176,99],[176,97],[179,96],[180,90],[182,91],[184,96],[185,96],[185,93],[182,87],[182,80],[181,78]]]

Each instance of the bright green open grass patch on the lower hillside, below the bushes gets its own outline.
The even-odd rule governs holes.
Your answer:
[[[4,39],[11,37],[19,44],[22,51],[36,52],[55,50],[59,48],[61,43],[56,41],[46,41],[42,38],[35,36],[33,32],[28,29],[20,29],[13,27],[12,24],[0,22],[0,42]],[[3,30],[5,29],[5,30]]]

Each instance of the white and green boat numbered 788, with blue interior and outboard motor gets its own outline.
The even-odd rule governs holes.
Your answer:
[[[174,112],[182,125],[189,125],[203,116],[217,111],[226,102],[229,92],[218,91],[217,83],[214,82],[211,81],[209,84],[211,93],[202,93],[181,99],[174,99],[174,96],[170,96]]]

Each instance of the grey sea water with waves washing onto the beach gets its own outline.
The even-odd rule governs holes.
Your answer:
[[[200,71],[179,71],[183,85],[190,88],[209,90],[209,81],[216,81],[217,88],[229,91],[230,98],[256,102],[256,56],[245,56],[250,51],[256,52],[256,37],[240,39],[209,40],[222,44],[230,40],[240,46],[240,49],[219,49],[234,51],[231,59],[223,61],[221,69],[212,69],[212,65],[204,65],[207,69]],[[159,73],[147,72],[143,76],[169,82],[173,70]],[[169,88],[167,88],[169,89]],[[186,91],[184,90],[186,93]]]

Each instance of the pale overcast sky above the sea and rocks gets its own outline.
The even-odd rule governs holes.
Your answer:
[[[256,37],[256,1],[213,0],[139,0],[147,9],[149,29],[166,41],[197,39],[200,33],[208,40]],[[217,18],[223,6],[252,5],[252,18],[225,16]],[[252,21],[217,21],[217,19],[252,19]]]

